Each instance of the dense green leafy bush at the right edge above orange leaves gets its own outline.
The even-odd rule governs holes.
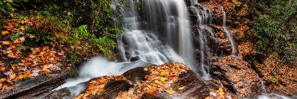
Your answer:
[[[297,59],[297,0],[263,0],[264,15],[252,29],[257,52],[268,56],[277,52],[281,61]]]

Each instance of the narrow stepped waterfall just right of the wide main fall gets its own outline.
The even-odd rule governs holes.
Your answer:
[[[196,1],[196,0],[194,0]],[[199,7],[196,7],[199,6]],[[198,2],[192,2],[191,8],[196,11],[198,16],[197,18],[197,33],[198,38],[196,38],[199,42],[199,52],[200,52],[200,64],[199,71],[205,77],[205,79],[211,79],[210,77],[210,65],[211,65],[211,57],[213,56],[212,45],[208,45],[209,39],[216,41],[217,39],[214,37],[213,29],[209,27],[212,21],[212,11],[211,9],[199,4]]]

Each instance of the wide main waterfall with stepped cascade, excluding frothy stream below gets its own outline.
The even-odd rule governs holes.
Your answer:
[[[154,64],[181,61],[193,63],[188,10],[183,0],[140,0],[123,16],[131,25],[118,39],[124,61],[143,60]],[[130,1],[132,2],[132,1]]]

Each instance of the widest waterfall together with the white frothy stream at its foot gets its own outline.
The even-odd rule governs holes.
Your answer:
[[[139,0],[141,9],[136,8],[133,1],[126,1],[131,8],[123,13],[124,21],[131,27],[124,28],[125,34],[118,39],[124,62],[94,58],[80,68],[79,78],[68,80],[56,90],[69,88],[72,96],[77,96],[86,88],[82,83],[95,77],[120,75],[148,63],[159,65],[179,61],[193,64],[190,20],[184,0]],[[115,5],[111,7],[116,8]]]

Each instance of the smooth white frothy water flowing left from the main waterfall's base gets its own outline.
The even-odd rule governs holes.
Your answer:
[[[121,75],[122,73],[139,66],[146,66],[147,62],[134,61],[134,62],[109,62],[103,57],[94,57],[91,61],[87,62],[79,69],[79,77],[66,80],[66,83],[59,86],[55,90],[68,88],[71,92],[70,98],[79,95],[86,89],[84,82],[88,82],[92,78],[100,76]]]

